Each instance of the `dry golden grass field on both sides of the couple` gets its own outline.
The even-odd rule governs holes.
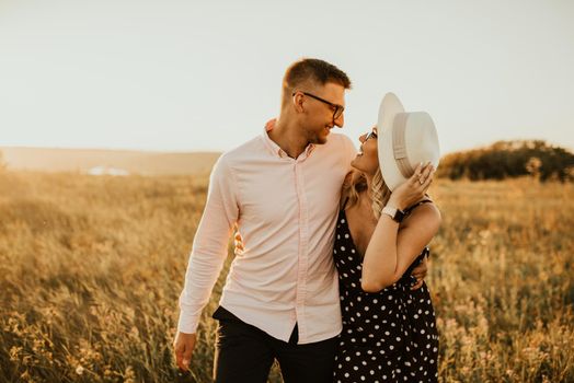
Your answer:
[[[175,381],[206,176],[0,174],[0,381]],[[443,382],[574,381],[574,186],[438,181]],[[193,361],[208,382],[215,309]],[[275,369],[271,381],[278,382]]]

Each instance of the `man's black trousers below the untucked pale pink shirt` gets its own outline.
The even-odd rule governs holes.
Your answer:
[[[297,345],[297,325],[289,341],[283,341],[221,306],[214,318],[219,321],[214,364],[216,383],[265,383],[275,359],[285,383],[333,381],[336,337]]]

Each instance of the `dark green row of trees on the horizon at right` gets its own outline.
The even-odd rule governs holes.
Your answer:
[[[574,181],[574,154],[542,140],[498,141],[490,147],[445,155],[438,177],[504,179],[529,175],[542,182]]]

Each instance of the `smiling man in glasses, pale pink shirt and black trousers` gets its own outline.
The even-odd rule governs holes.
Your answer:
[[[200,312],[236,229],[220,306],[216,382],[331,382],[341,312],[332,246],[341,185],[356,151],[343,135],[348,77],[319,59],[292,63],[279,117],[218,160],[197,229],[174,341],[188,369]],[[329,138],[329,139],[328,139]]]

